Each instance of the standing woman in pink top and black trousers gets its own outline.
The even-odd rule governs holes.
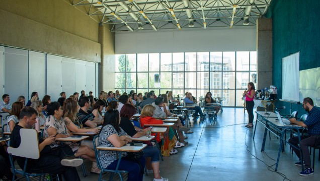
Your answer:
[[[246,96],[246,108],[247,112],[249,115],[249,123],[246,125],[247,128],[252,128],[253,127],[253,119],[254,119],[254,114],[253,114],[253,108],[255,106],[255,102],[253,101],[255,98],[255,85],[252,82],[248,83],[248,90],[245,90],[245,96]]]

